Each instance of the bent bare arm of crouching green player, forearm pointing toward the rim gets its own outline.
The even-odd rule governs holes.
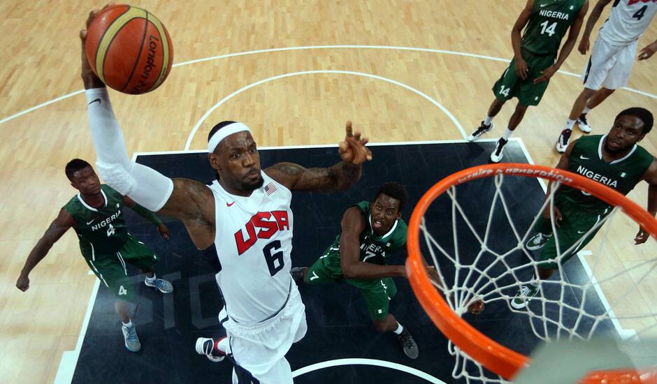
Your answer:
[[[383,277],[406,276],[403,265],[377,265],[363,263],[361,258],[361,232],[366,223],[358,207],[347,209],[342,216],[340,235],[340,267],[347,279],[381,279]]]

